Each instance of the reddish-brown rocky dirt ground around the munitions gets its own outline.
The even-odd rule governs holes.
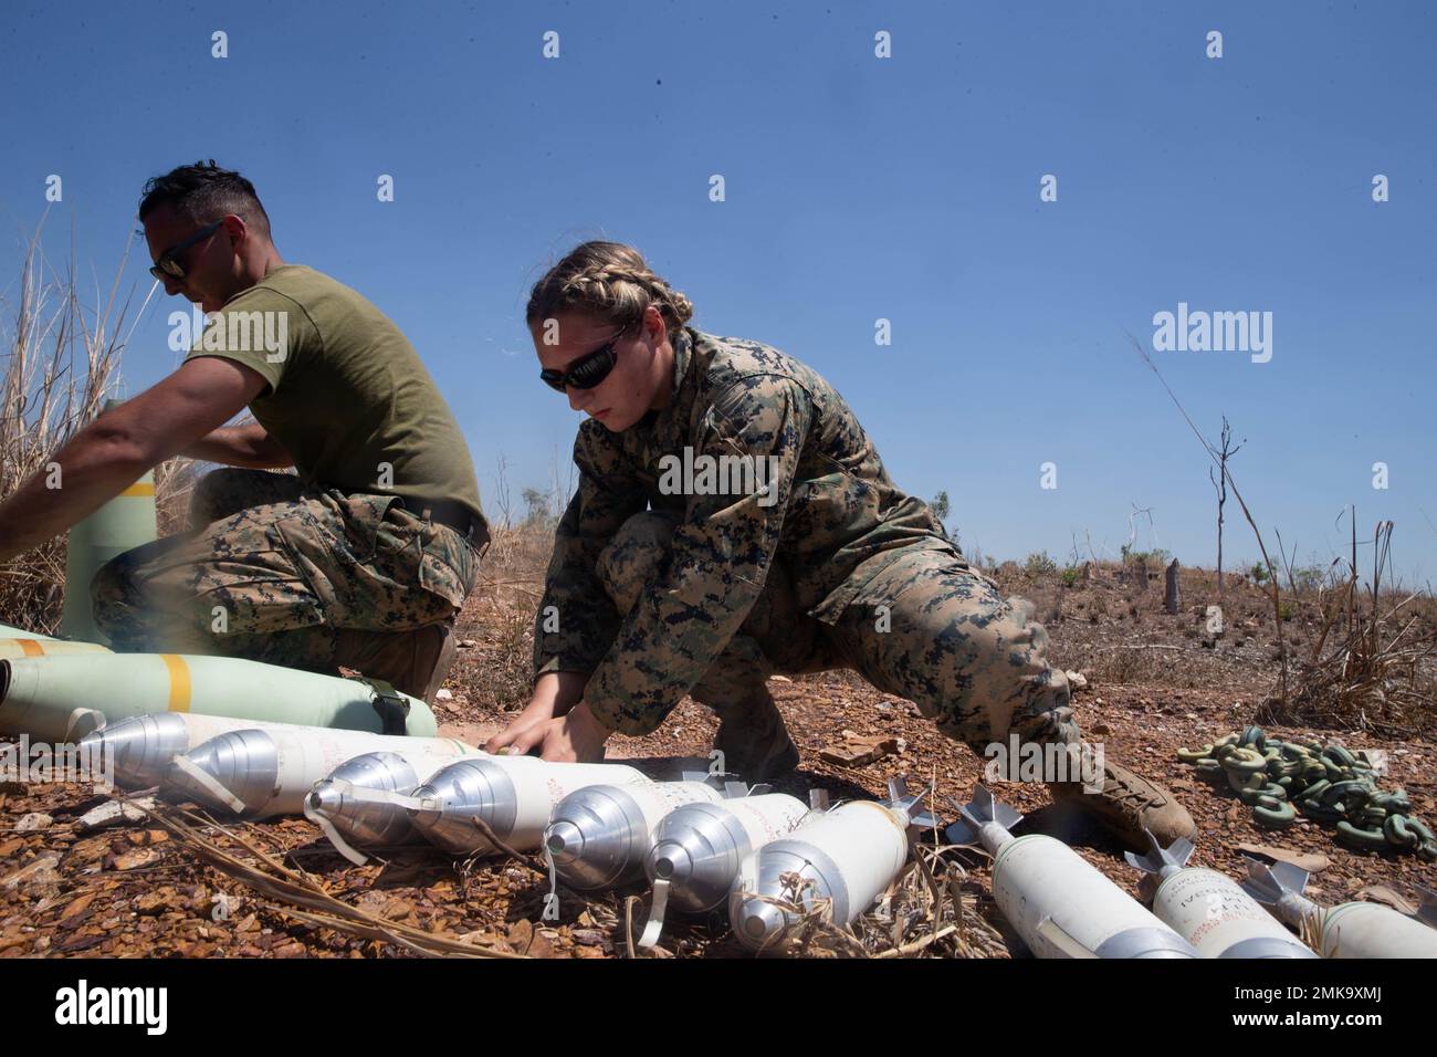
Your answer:
[[[460,620],[463,647],[447,685],[451,697],[435,709],[444,733],[480,742],[522,706],[543,549],[542,541],[510,542],[486,565],[484,581]],[[1273,686],[1276,624],[1256,585],[1230,578],[1227,630],[1213,641],[1204,630],[1207,607],[1216,603],[1211,574],[1186,574],[1175,616],[1163,611],[1157,574],[1140,590],[1121,582],[1115,568],[1098,568],[1091,582],[1063,590],[1061,601],[1056,574],[1029,581],[1016,565],[1006,565],[999,577],[1006,590],[1035,601],[1053,662],[1085,673],[1089,685],[1073,697],[1085,738],[1101,741],[1111,759],[1165,784],[1191,811],[1200,830],[1194,864],[1240,877],[1239,846],[1244,843],[1316,853],[1328,864],[1308,892],[1323,903],[1364,892],[1371,897],[1372,886],[1415,902],[1417,884],[1437,886],[1434,864],[1413,854],[1349,850],[1334,840],[1331,828],[1306,820],[1282,831],[1263,830],[1226,784],[1213,785],[1177,761],[1180,746],[1200,746],[1252,722]],[[1061,605],[1056,613],[1055,604]],[[1418,633],[1431,634],[1430,614],[1426,620],[1428,626]],[[1299,604],[1283,624],[1289,649],[1312,649],[1313,607]],[[770,689],[803,754],[800,769],[776,782],[777,791],[806,797],[809,788],[822,787],[835,800],[878,797],[890,777],[907,775],[915,785],[934,782],[935,807],[947,821],[954,815],[951,801],[966,800],[981,778],[984,761],[943,738],[908,702],[878,693],[852,673],[775,679]],[[1437,702],[1428,706],[1437,709]],[[1384,733],[1332,726],[1266,729],[1283,738],[1335,738],[1354,751],[1385,749],[1384,787],[1405,788],[1418,815],[1437,823],[1433,742],[1398,728]],[[685,699],[652,735],[614,738],[609,756],[652,758],[651,772],[677,777],[680,758],[704,756],[714,731],[707,710]],[[819,751],[845,732],[895,736],[902,751],[861,768],[822,761]],[[1025,825],[1071,841],[1088,861],[1138,893],[1138,876],[1121,850],[1082,817],[1052,805],[1045,787],[1007,782],[996,792],[1027,815]],[[368,958],[408,956],[415,949],[372,928],[358,935],[332,920],[320,925],[313,916],[296,916],[285,899],[217,869],[155,821],[79,831],[76,818],[101,802],[102,797],[75,785],[0,787],[0,958]],[[371,922],[379,918],[490,953],[624,956],[629,935],[624,896],[642,897],[634,910],[635,933],[647,910],[642,889],[592,900],[565,896],[559,920],[543,922],[549,882],[525,863],[456,863],[431,848],[415,848],[356,867],[300,818],[226,825],[250,848],[211,831],[218,846],[251,861],[263,850]],[[1023,956],[987,897],[984,859],[953,853],[953,861],[966,870],[961,887],[973,912],[1007,941],[1006,951],[989,953]],[[739,953],[723,919],[708,916],[671,919],[652,956]]]

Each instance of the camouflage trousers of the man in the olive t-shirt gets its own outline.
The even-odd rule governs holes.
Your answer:
[[[188,532],[106,562],[91,597],[116,650],[333,672],[343,630],[451,623],[477,572],[468,541],[397,496],[226,467],[195,485]]]

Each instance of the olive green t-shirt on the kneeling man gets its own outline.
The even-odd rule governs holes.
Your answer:
[[[303,265],[230,298],[190,357],[257,371],[254,418],[322,489],[457,500],[483,516],[474,463],[414,347],[379,309]]]

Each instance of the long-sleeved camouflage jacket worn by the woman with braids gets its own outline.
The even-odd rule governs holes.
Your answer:
[[[674,470],[685,457],[729,475],[684,480]],[[752,480],[734,472],[744,457]],[[844,398],[756,341],[685,326],[674,338],[670,404],[621,433],[585,421],[573,460],[579,486],[555,535],[535,670],[589,673],[585,702],[624,733],[655,729],[703,677],[773,561],[809,616],[833,624],[898,549],[953,549],[928,506],[894,488]],[[767,489],[721,492],[724,480]],[[650,506],[678,519],[670,561],[619,614],[595,567],[619,526]]]

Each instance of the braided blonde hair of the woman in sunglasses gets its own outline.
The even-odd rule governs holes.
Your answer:
[[[674,337],[694,316],[694,306],[650,270],[644,255],[618,242],[575,246],[529,292],[525,322],[533,329],[565,309],[586,311],[625,331],[654,305]]]

